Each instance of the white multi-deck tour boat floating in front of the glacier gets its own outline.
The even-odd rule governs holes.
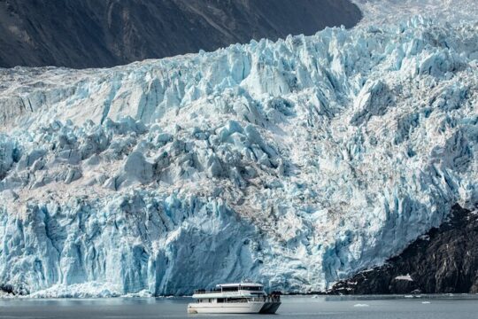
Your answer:
[[[189,314],[275,314],[281,306],[279,293],[267,295],[262,284],[217,284],[211,291],[194,292],[196,302]]]

